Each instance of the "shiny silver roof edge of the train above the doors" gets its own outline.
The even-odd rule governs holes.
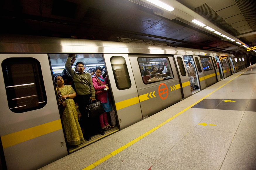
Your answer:
[[[165,55],[234,56],[214,51],[124,43],[114,41],[85,40],[76,38],[56,38],[3,34],[0,39],[2,53],[129,53]]]

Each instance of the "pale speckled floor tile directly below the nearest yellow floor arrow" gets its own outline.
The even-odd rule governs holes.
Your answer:
[[[195,127],[158,162],[175,170],[219,170],[234,134]]]

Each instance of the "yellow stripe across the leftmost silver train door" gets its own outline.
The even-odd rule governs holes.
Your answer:
[[[54,132],[59,129],[62,129],[60,119],[1,136],[3,148],[7,148],[24,141],[28,141],[30,139]]]

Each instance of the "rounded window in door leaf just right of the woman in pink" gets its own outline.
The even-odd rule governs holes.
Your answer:
[[[110,58],[116,87],[119,90],[129,89],[132,86],[128,73],[125,58],[122,56],[113,56]]]

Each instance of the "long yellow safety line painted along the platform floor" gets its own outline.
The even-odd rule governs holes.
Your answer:
[[[249,70],[249,69],[247,69]],[[246,70],[246,71],[247,71]],[[245,71],[244,71],[245,72]],[[243,72],[243,73],[244,73]],[[243,74],[241,73],[241,74]],[[238,76],[240,76],[241,74],[239,74]],[[235,78],[237,78],[238,76],[236,76]],[[234,80],[235,78],[229,80],[227,83],[225,83],[224,85],[228,84],[229,82],[231,82],[232,80]],[[159,127],[163,126],[164,124],[166,124],[167,122],[173,120],[174,118],[176,118],[178,115],[180,115],[181,113],[185,112],[186,110],[188,110],[189,108],[195,106],[197,103],[199,103],[200,101],[202,101],[203,99],[205,99],[206,97],[208,97],[209,95],[211,95],[212,93],[216,92],[217,90],[219,90],[221,87],[223,87],[224,85],[220,86],[219,88],[217,88],[216,90],[210,92],[209,94],[207,94],[205,97],[203,97],[202,99],[199,99],[198,101],[196,101],[195,103],[191,104],[190,106],[188,106],[187,108],[185,108],[183,111],[180,111],[179,113],[177,113],[176,115],[174,115],[173,117],[165,120],[164,122],[162,122],[161,124],[157,125],[156,127],[150,129],[148,132],[142,134],[141,136],[139,136],[138,138],[133,139],[132,141],[130,141],[129,143],[121,146],[120,148],[114,150],[113,152],[111,152],[109,155],[104,156],[103,158],[97,160],[96,162],[90,164],[89,166],[85,167],[82,170],[90,170],[92,168],[94,168],[95,166],[99,165],[100,163],[106,161],[107,159],[109,159],[110,157],[118,154],[119,152],[121,152],[122,150],[128,148],[129,146],[131,146],[132,144],[138,142],[140,139],[144,138],[145,136],[149,135],[150,133],[154,132],[155,130],[157,130]]]

